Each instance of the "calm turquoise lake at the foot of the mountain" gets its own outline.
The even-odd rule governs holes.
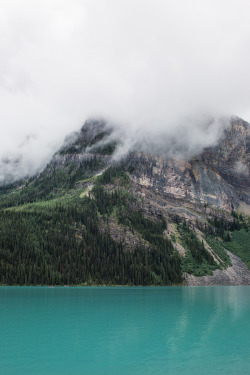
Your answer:
[[[0,287],[1,375],[250,374],[250,287]]]

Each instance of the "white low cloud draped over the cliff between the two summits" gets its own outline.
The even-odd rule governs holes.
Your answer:
[[[177,117],[169,126],[157,129],[150,126],[126,129],[117,125],[108,140],[120,141],[114,155],[116,160],[133,150],[188,159],[199,154],[205,147],[215,146],[224,136],[224,130],[229,126],[230,120],[230,117]]]

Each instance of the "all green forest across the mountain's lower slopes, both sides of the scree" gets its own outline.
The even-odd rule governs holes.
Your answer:
[[[176,217],[186,249],[181,257],[174,240],[164,235],[166,219],[143,213],[124,166],[100,173],[103,167],[93,156],[77,165],[48,166],[36,177],[0,189],[2,285],[178,285],[183,272],[211,274],[230,264],[221,241],[233,249],[234,232],[249,228],[243,217],[233,213],[229,222],[213,217],[199,228],[220,265],[194,229]],[[110,217],[141,238],[133,250],[101,229]]]

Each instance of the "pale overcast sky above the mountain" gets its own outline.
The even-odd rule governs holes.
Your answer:
[[[0,56],[0,158],[31,169],[89,116],[250,121],[248,0],[0,0]]]

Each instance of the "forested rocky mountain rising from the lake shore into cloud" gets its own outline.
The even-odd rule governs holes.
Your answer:
[[[123,141],[90,119],[0,188],[0,282],[250,284],[250,125],[189,159],[140,142],[119,157]]]

